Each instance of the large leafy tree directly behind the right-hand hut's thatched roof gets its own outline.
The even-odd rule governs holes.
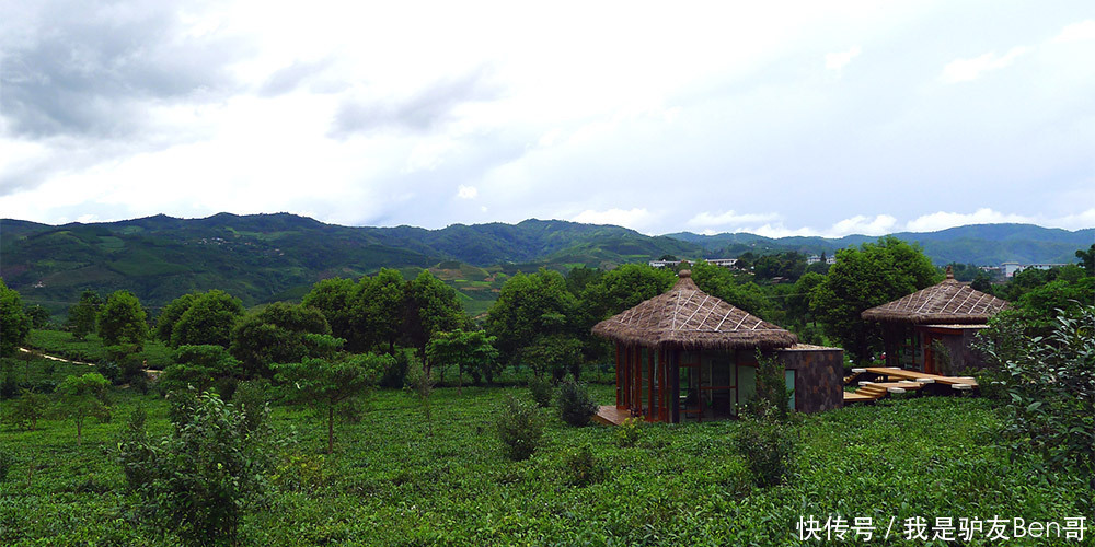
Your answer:
[[[826,334],[857,363],[881,347],[877,329],[860,314],[938,281],[938,270],[920,247],[894,236],[837,252],[837,264],[810,294],[810,307]]]

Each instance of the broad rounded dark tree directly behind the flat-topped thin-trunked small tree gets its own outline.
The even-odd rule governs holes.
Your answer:
[[[273,364],[334,356],[343,341],[330,335],[331,327],[319,310],[277,302],[237,325],[231,351],[243,363],[246,376],[268,376]]]

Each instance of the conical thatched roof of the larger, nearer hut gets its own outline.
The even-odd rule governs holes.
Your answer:
[[[627,345],[702,349],[785,348],[798,339],[771,323],[701,291],[691,271],[668,292],[593,326],[593,334]]]

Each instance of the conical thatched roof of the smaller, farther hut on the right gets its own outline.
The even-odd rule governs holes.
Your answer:
[[[988,322],[1007,305],[1005,300],[955,281],[947,267],[947,278],[942,283],[866,310],[861,316],[869,321],[969,325]]]

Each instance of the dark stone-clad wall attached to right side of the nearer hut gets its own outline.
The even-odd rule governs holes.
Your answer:
[[[776,354],[795,371],[796,410],[820,412],[844,406],[844,350],[792,347]]]

